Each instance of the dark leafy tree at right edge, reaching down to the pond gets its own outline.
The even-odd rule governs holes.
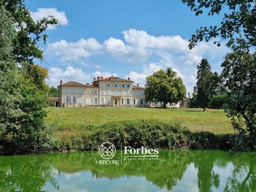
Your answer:
[[[244,39],[231,39],[222,63],[222,84],[230,101],[225,105],[227,117],[238,130],[230,136],[230,154],[256,149],[256,52],[250,52]]]

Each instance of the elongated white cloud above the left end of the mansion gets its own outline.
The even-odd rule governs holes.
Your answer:
[[[82,38],[77,42],[60,40],[54,43],[49,43],[46,49],[46,54],[60,56],[62,61],[71,61],[90,57],[101,48],[102,46],[95,38]]]

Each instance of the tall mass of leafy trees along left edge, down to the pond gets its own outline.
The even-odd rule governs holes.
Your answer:
[[[26,26],[26,22],[27,27],[17,28],[22,23]],[[42,134],[47,70],[32,61],[35,57],[42,58],[36,54],[42,53],[36,42],[46,28],[38,31],[34,25],[23,1],[0,1],[1,153],[35,153],[48,146]]]

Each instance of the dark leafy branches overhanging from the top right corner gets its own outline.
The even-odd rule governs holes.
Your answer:
[[[220,14],[222,9],[231,10],[224,13],[220,26],[200,27],[196,34],[192,34],[189,48],[192,49],[198,41],[209,41],[212,38],[221,36],[222,39],[230,39],[234,35],[244,34],[246,43],[249,46],[256,46],[256,3],[255,0],[182,0],[191,7],[195,15],[209,9],[208,16]],[[221,41],[220,40],[220,41]],[[220,46],[220,41],[214,42]]]

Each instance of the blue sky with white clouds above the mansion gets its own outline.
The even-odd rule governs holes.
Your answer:
[[[190,50],[189,38],[200,26],[218,25],[222,14],[195,16],[181,0],[25,0],[36,21],[55,16],[49,26],[43,61],[47,83],[91,83],[94,77],[130,77],[134,85],[159,69],[172,67],[183,79],[187,92],[196,85],[196,66],[207,58],[213,71],[221,71],[229,51],[210,42]]]

